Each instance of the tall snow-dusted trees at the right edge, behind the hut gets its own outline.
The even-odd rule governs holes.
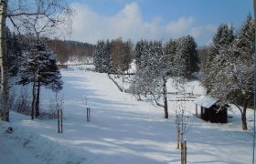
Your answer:
[[[242,129],[247,129],[246,110],[253,97],[254,23],[248,15],[235,34],[234,27],[219,26],[208,49],[204,86],[220,105],[233,103],[241,113]],[[241,101],[242,108],[237,104]]]

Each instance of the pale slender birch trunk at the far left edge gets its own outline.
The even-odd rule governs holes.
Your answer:
[[[0,2],[0,67],[1,67],[1,115],[2,120],[9,121],[8,108],[8,67],[7,67],[7,52],[6,52],[6,9],[8,0],[1,0]]]

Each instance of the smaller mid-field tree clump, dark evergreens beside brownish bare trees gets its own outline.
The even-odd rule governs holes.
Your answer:
[[[93,54],[95,70],[105,73],[124,74],[133,61],[133,44],[118,38],[98,41]]]

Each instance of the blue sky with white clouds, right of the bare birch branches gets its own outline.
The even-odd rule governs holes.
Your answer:
[[[163,40],[194,36],[210,43],[221,23],[239,29],[253,14],[252,0],[73,0],[72,39],[95,44],[99,39]]]

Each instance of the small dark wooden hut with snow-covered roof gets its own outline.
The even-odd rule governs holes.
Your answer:
[[[218,106],[218,98],[201,96],[198,97],[194,103],[196,104],[196,115],[203,120],[210,121],[212,123],[227,123],[228,122],[228,107]],[[198,116],[197,108],[200,106],[200,116]]]

